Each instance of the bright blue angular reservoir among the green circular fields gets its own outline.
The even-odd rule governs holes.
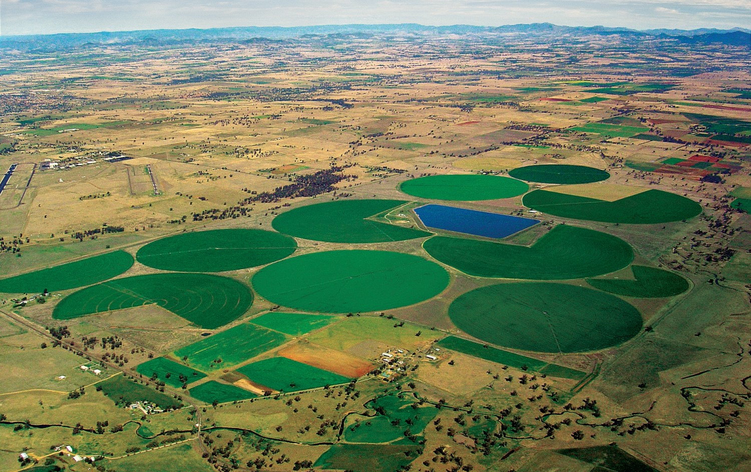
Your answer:
[[[532,218],[432,203],[416,208],[415,213],[426,227],[486,238],[505,238],[540,222]]]

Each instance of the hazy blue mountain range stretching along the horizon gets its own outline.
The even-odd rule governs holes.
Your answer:
[[[214,29],[154,29],[129,32],[66,33],[57,35],[0,36],[3,49],[50,52],[74,47],[104,44],[149,44],[154,46],[185,42],[216,43],[220,41],[261,41],[326,35],[529,35],[539,37],[584,37],[587,35],[621,35],[624,38],[675,39],[689,44],[726,44],[747,46],[747,29],[652,29],[638,31],[606,26],[559,26],[552,23],[529,23],[505,26],[424,26],[417,23],[385,25],[321,25],[321,26],[246,26]]]

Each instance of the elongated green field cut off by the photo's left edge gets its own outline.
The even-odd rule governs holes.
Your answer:
[[[36,270],[0,280],[0,292],[42,293],[68,290],[116,277],[133,266],[133,256],[125,251],[108,252],[75,262]]]

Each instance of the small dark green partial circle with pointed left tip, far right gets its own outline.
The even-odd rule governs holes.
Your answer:
[[[637,298],[674,296],[689,290],[689,281],[667,270],[647,266],[632,266],[634,280],[588,278],[587,284],[605,292]]]

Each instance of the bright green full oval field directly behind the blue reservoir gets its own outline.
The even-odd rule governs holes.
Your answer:
[[[399,189],[418,198],[472,201],[516,197],[529,185],[508,177],[467,174],[418,177],[402,182]]]

